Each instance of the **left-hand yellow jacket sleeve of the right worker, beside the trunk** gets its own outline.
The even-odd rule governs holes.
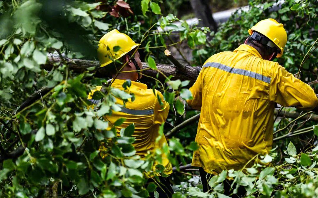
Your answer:
[[[190,91],[192,93],[193,98],[191,100],[187,100],[190,107],[193,109],[197,109],[201,111],[201,105],[202,105],[202,70],[199,73],[199,76],[197,77],[196,82],[190,87]]]

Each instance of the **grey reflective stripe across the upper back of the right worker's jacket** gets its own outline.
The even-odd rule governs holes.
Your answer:
[[[227,65],[224,65],[221,63],[214,63],[214,62],[206,63],[205,65],[203,65],[203,67],[213,67],[213,68],[217,68],[217,69],[221,69],[223,71],[229,72],[231,74],[239,74],[239,75],[243,75],[243,76],[248,76],[251,78],[255,78],[257,80],[261,80],[261,81],[266,82],[266,83],[271,82],[270,77],[263,76],[261,74],[258,74],[258,73],[252,72],[252,71],[248,71],[245,69],[232,68],[230,66],[227,66]]]

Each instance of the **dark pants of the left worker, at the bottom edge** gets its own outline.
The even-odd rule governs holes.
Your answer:
[[[154,180],[156,180],[156,182]],[[172,194],[174,194],[169,177],[159,177],[159,181],[156,178],[150,178],[148,182],[154,182],[156,185],[159,184],[156,189],[159,194],[159,198],[171,198]],[[155,198],[153,192],[149,192],[149,195],[151,198]]]

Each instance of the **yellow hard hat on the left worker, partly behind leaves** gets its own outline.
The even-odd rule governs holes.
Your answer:
[[[135,43],[127,34],[120,33],[116,29],[106,33],[99,40],[97,49],[100,67],[119,59],[138,45],[140,44]]]

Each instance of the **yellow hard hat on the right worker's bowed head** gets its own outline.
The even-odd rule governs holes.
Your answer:
[[[275,19],[269,18],[256,23],[248,30],[248,33],[252,35],[253,31],[266,36],[280,49],[280,53],[276,56],[277,58],[283,55],[284,47],[287,42],[287,33],[283,24],[278,23]]]

